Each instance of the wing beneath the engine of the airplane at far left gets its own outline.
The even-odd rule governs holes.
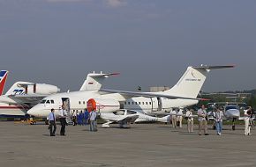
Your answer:
[[[47,97],[47,95],[10,95],[8,98],[11,98],[12,100],[19,102],[21,104],[31,103],[31,104],[37,104],[41,101],[42,98]]]

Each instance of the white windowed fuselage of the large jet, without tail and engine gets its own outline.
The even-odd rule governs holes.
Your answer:
[[[55,95],[50,95],[45,100],[53,101],[54,103],[43,103],[35,105],[32,109],[28,111],[28,114],[31,114],[35,117],[46,118],[50,109],[54,108],[59,110],[60,106],[63,105],[62,98],[69,98],[70,100],[70,111],[83,111],[87,108],[87,100],[90,98],[102,98],[102,99],[112,99],[117,100],[117,94],[108,94],[108,96],[101,95],[98,91],[74,91],[70,93],[59,93]],[[141,110],[145,113],[155,113],[155,112],[169,112],[172,107],[180,107],[187,105],[197,104],[197,100],[190,99],[168,99],[160,98],[161,102],[157,98],[129,98],[126,101],[117,100],[120,102],[120,106],[112,104],[104,104],[104,110],[100,112],[116,112],[119,109],[131,109],[131,110]],[[133,105],[132,105],[133,102]],[[130,105],[129,105],[130,104]],[[136,105],[137,104],[137,105]],[[56,113],[57,114],[57,113]]]

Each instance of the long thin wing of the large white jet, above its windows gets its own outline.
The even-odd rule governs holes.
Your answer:
[[[192,100],[207,100],[206,98],[186,98],[186,97],[179,97],[179,96],[170,96],[160,93],[153,93],[153,92],[137,92],[137,91],[116,91],[116,90],[100,90],[101,93],[119,93],[123,95],[125,98],[133,98],[133,97],[145,97],[145,98],[169,98],[169,99],[192,99]]]

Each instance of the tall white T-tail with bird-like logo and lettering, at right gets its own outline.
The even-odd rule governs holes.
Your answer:
[[[179,79],[176,85],[174,85],[168,91],[164,91],[165,94],[175,95],[187,98],[197,98],[202,85],[204,84],[207,73],[211,69],[225,69],[233,68],[234,66],[200,66],[200,67],[188,67],[184,72],[184,75]]]

